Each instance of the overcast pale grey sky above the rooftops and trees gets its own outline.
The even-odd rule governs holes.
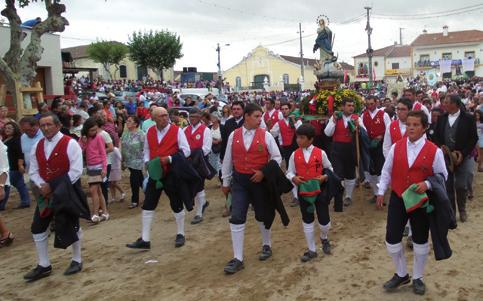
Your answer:
[[[329,27],[335,33],[334,51],[339,61],[353,64],[352,57],[365,52],[366,18],[349,24],[347,20],[365,14],[364,6],[372,6],[374,17],[373,48],[399,41],[411,43],[422,31],[441,32],[443,25],[450,31],[483,30],[483,7],[452,16],[410,20],[408,17],[376,18],[378,15],[412,15],[451,12],[482,4],[481,0],[63,0],[67,5],[68,26],[61,34],[61,47],[89,44],[96,39],[127,42],[137,30],[176,32],[183,43],[183,58],[175,70],[198,67],[198,71],[216,71],[216,44],[222,47],[224,70],[237,64],[253,48],[265,45],[277,54],[299,56],[298,23],[302,23],[304,56],[316,58],[312,47],[316,38],[316,19],[327,15]],[[20,9],[22,20],[46,15],[43,3]],[[292,40],[286,43],[281,43]]]

